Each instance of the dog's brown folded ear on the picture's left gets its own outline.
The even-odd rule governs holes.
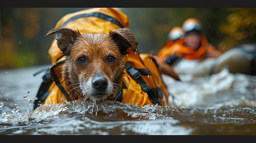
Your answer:
[[[46,34],[46,36],[52,34],[55,34],[55,39],[57,40],[58,47],[61,49],[64,55],[68,54],[71,45],[81,35],[78,30],[74,31],[70,28],[51,29]]]

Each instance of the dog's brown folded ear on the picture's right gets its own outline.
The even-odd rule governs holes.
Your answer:
[[[137,48],[138,43],[128,27],[110,31],[109,36],[117,43],[122,55],[128,54],[128,48]]]

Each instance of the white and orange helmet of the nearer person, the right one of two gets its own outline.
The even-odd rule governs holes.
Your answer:
[[[193,30],[202,31],[203,26],[202,26],[202,23],[200,22],[200,20],[198,20],[196,18],[189,18],[183,22],[182,29],[185,33],[189,32],[189,31],[193,31]]]

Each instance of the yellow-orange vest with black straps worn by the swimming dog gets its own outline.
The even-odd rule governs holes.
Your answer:
[[[92,8],[65,15],[57,22],[55,28],[69,27],[78,29],[80,33],[109,33],[110,30],[128,27],[129,24],[127,15],[117,9]],[[122,90],[110,96],[110,99],[139,106],[147,104],[168,106],[168,91],[162,81],[157,63],[149,54],[139,54],[137,49],[132,47],[128,48],[127,52],[129,54],[123,56],[123,66],[127,68],[124,70],[122,87],[120,87]],[[65,79],[62,79],[59,73],[66,59],[61,54],[56,40],[52,42],[48,53],[52,66],[45,70],[43,83],[36,95],[38,100],[34,102],[34,109],[41,104],[81,99],[80,96],[74,99],[65,91]]]

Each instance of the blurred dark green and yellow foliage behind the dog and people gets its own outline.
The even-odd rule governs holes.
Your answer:
[[[86,8],[1,8],[0,69],[51,64],[53,37],[45,34],[67,13]],[[256,8],[120,8],[140,53],[157,52],[168,32],[188,18],[198,18],[208,41],[225,52],[238,44],[256,42]]]

